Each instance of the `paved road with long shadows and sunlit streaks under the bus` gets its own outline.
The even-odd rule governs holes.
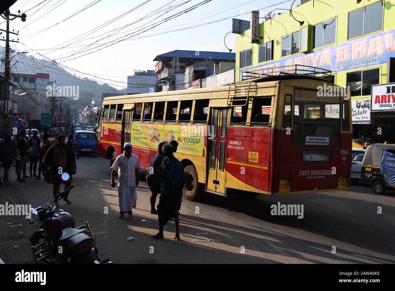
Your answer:
[[[151,238],[158,223],[156,215],[149,213],[150,192],[143,182],[144,172],[134,215],[126,215],[122,221],[118,219],[117,189],[109,186],[109,161],[82,156],[77,166],[75,188],[69,196],[73,204],[62,202],[61,208],[73,215],[77,225],[89,221],[102,259],[116,263],[395,262],[395,195],[376,195],[368,186],[319,194],[184,200],[180,211],[182,241],[177,242],[171,238],[173,222],[165,226],[164,240]],[[12,167],[11,181],[16,180],[14,170]],[[37,207],[51,201],[51,192],[51,185],[43,180],[2,184],[0,204]],[[271,205],[277,202],[303,204],[303,219],[272,216]],[[377,213],[378,207],[382,214]],[[23,226],[11,228],[8,223]],[[36,229],[24,217],[0,216],[0,258],[6,263],[32,262],[28,238]],[[202,236],[210,241],[204,242],[197,234],[207,232],[212,234]],[[135,239],[127,241],[130,236]],[[333,246],[336,253],[332,253]]]

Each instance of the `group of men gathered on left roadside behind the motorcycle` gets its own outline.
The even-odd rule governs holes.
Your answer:
[[[9,185],[9,169],[15,160],[18,182],[24,183],[26,178],[40,180],[42,172],[45,181],[53,184],[55,195],[62,184],[61,175],[66,172],[69,173],[70,179],[64,184],[71,185],[73,181],[71,176],[77,171],[76,159],[78,159],[77,143],[73,141],[72,136],[69,135],[67,144],[64,135],[55,134],[54,139],[49,140],[48,134],[43,133],[41,141],[37,131],[33,131],[32,137],[29,138],[25,129],[19,130],[16,143],[11,137],[11,132],[7,132],[6,138],[0,142],[1,162],[4,166],[3,181],[6,185]],[[26,175],[27,162],[30,162],[30,177]],[[37,169],[38,175],[36,175]],[[63,200],[71,204],[68,194],[66,193]]]

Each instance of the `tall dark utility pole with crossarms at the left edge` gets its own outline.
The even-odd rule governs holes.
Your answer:
[[[14,20],[17,17],[21,18],[21,21],[26,21],[26,14],[23,13],[22,15],[19,15],[19,13],[21,13],[21,11],[18,11],[18,15],[15,14],[11,14],[9,13],[9,10],[7,9],[7,11],[5,11],[4,13],[1,13],[0,16],[3,17],[4,19],[6,19],[6,30],[4,29],[0,29],[1,31],[6,32],[6,55],[4,58],[4,100],[3,100],[3,137],[5,138],[6,136],[6,131],[8,130],[8,100],[9,100],[9,71],[10,71],[10,63],[11,60],[9,59],[9,42],[18,42],[18,40],[9,40],[9,34],[16,34],[18,35],[18,33],[16,32],[10,32],[9,31],[9,21],[10,20]],[[3,15],[4,14],[4,15]],[[13,18],[9,18],[10,16],[12,16]],[[4,40],[4,39],[2,39]]]

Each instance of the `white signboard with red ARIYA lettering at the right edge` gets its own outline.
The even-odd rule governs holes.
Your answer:
[[[371,111],[395,110],[395,83],[372,85]]]

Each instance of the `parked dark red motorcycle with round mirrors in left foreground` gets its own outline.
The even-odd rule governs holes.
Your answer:
[[[70,175],[62,174],[62,180],[68,181]],[[63,183],[62,183],[63,184]],[[52,203],[46,203],[38,208],[30,208],[37,215],[40,230],[30,237],[34,262],[46,264],[112,264],[109,259],[100,261],[96,238],[90,230],[88,222],[75,228],[74,218],[59,209],[59,200],[71,190],[74,185],[55,195]]]

